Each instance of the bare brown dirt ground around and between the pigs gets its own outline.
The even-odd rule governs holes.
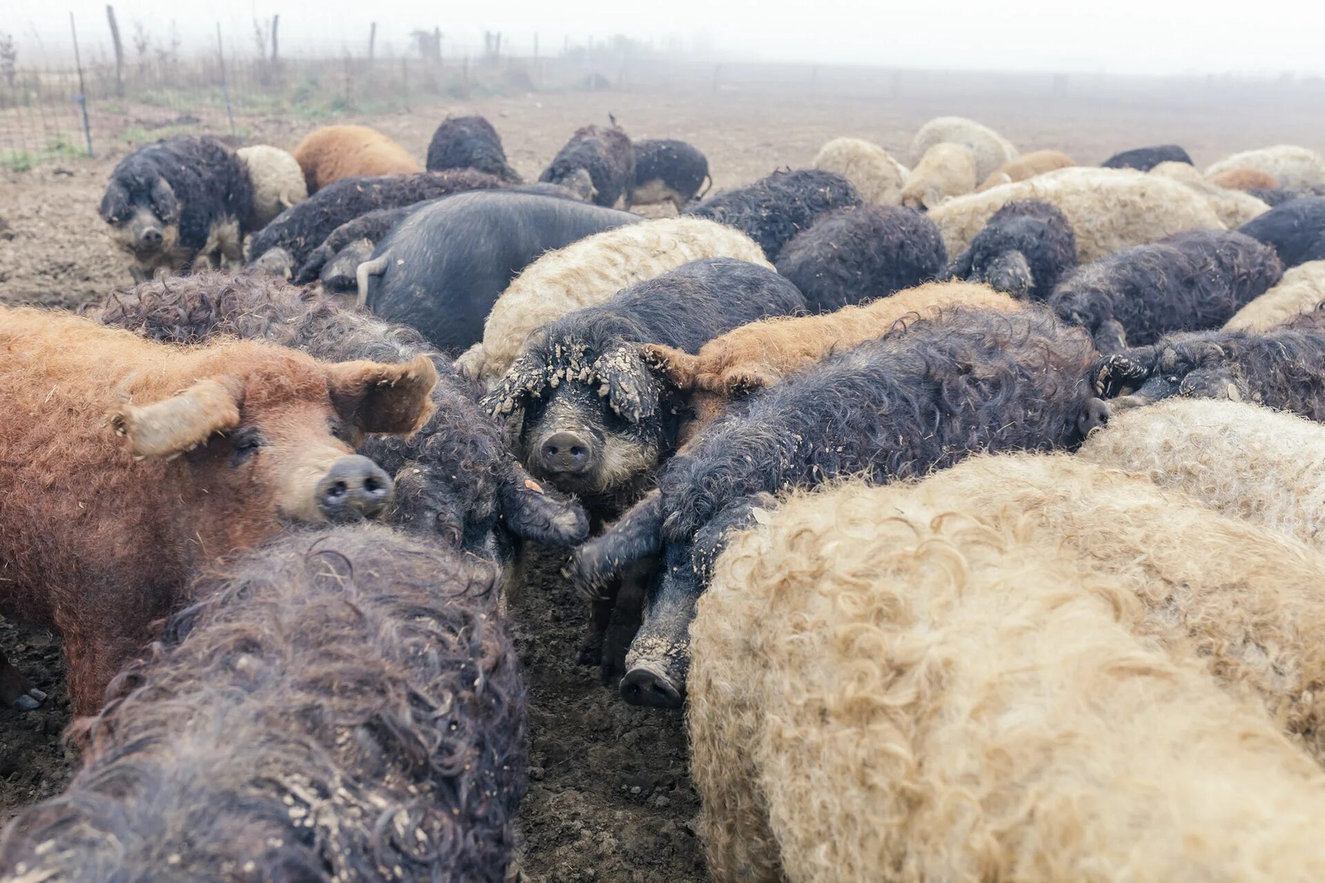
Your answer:
[[[1231,95],[1215,85],[1186,93],[1057,94],[1045,78],[1041,87],[1020,91],[963,93],[941,82],[892,97],[819,94],[804,85],[786,91],[539,94],[356,122],[376,126],[421,158],[443,116],[481,113],[501,131],[515,167],[535,177],[574,128],[613,113],[632,136],[698,146],[722,188],[803,165],[824,140],[844,134],[874,140],[905,160],[914,130],[939,114],[975,116],[1023,150],[1059,148],[1081,163],[1165,142],[1182,143],[1200,165],[1269,143],[1325,150],[1325,116],[1310,98],[1272,89]],[[253,136],[246,140],[289,148],[311,126],[249,120]],[[118,159],[0,172],[0,301],[76,306],[129,283],[97,218],[106,175]],[[624,706],[599,686],[596,671],[575,665],[587,610],[558,568],[553,556],[541,560],[513,610],[533,700],[533,781],[522,813],[526,875],[547,883],[705,880],[681,716]],[[21,806],[57,793],[74,759],[58,740],[68,723],[58,643],[0,621],[0,646],[50,694],[37,712],[0,710],[3,825]]]

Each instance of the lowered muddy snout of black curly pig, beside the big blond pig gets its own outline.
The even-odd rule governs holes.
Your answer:
[[[690,548],[669,547],[662,579],[644,602],[644,621],[625,654],[621,699],[632,706],[681,707],[690,670],[690,622],[702,592]]]

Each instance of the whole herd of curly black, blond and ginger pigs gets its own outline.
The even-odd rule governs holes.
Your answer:
[[[0,880],[518,879],[530,544],[685,708],[716,880],[1325,878],[1325,159],[905,159],[127,156],[135,286],[0,307],[0,614],[82,753]]]

